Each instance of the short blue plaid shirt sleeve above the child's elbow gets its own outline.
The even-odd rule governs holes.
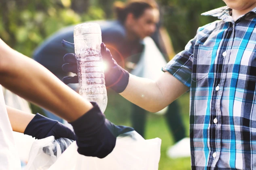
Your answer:
[[[177,54],[162,68],[164,72],[168,71],[187,87],[191,85],[194,45],[195,38],[188,42],[184,51]]]

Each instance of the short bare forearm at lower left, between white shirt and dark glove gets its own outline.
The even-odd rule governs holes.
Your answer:
[[[6,109],[13,131],[24,133],[29,122],[34,118],[35,115],[11,108],[9,106],[6,106]]]

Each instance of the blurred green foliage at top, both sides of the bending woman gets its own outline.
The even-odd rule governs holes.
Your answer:
[[[31,56],[46,37],[66,25],[112,18],[115,0],[0,0],[0,38],[15,50]],[[125,1],[125,0],[122,0]],[[202,17],[224,6],[222,0],[158,0],[162,22],[176,52],[183,50],[197,28],[216,20]]]

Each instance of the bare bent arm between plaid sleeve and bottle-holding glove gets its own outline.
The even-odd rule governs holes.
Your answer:
[[[129,83],[120,95],[149,112],[158,112],[187,90],[186,85],[168,72],[157,81],[130,74]]]

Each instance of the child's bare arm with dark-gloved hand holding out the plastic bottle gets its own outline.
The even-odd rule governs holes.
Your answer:
[[[74,48],[74,44],[67,41],[62,41],[62,44],[66,48]],[[184,50],[180,55],[188,56],[186,61],[190,61],[190,51],[193,50]],[[101,54],[103,60],[108,65],[108,69],[104,71],[106,86],[111,87],[127,100],[141,108],[144,108],[145,110],[158,112],[188,90],[188,85],[185,85],[183,81],[178,80],[169,72],[165,72],[157,81],[129,74],[116,63],[112,58],[110,50],[108,50],[104,44],[101,44]],[[180,55],[178,55],[178,57]],[[62,69],[66,72],[77,74],[78,70],[75,55],[71,53],[66,54],[63,59],[66,63],[63,64]],[[177,68],[174,68],[174,70],[182,68],[183,65],[184,63],[177,64]],[[185,70],[189,70],[189,68]],[[181,70],[180,72],[183,71]],[[185,75],[184,79],[188,79],[188,77],[191,76],[189,71]],[[78,77],[64,77],[63,82],[66,84],[78,83]]]

